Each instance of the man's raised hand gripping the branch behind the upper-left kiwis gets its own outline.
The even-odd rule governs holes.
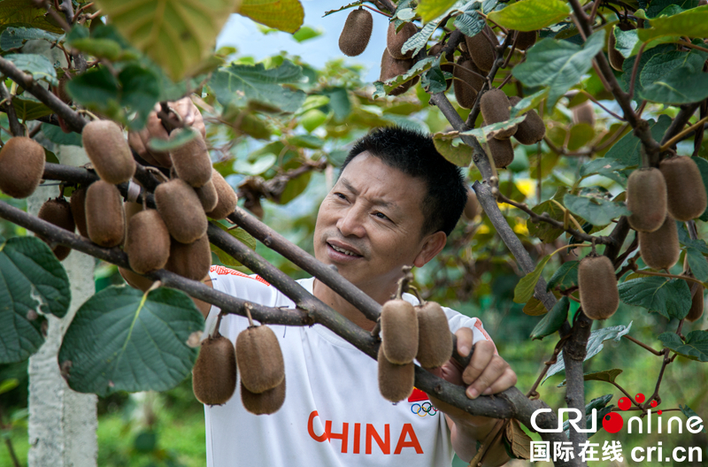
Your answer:
[[[202,114],[196,105],[192,103],[192,100],[187,97],[182,97],[179,101],[168,103],[170,108],[180,114],[184,124],[186,126],[191,126],[195,130],[198,130],[202,137],[206,135],[206,128],[204,127],[204,119],[202,119]],[[158,119],[158,111],[160,110],[160,104],[155,104],[155,109],[150,112],[148,116],[148,124],[139,132],[130,132],[127,135],[127,141],[130,143],[130,147],[135,149],[138,156],[142,157],[145,162],[150,165],[158,165],[160,167],[170,168],[172,167],[172,161],[170,160],[170,155],[166,152],[159,152],[150,149],[148,142],[152,138],[159,140],[167,140],[169,134],[165,130],[165,126],[162,126],[162,122]]]

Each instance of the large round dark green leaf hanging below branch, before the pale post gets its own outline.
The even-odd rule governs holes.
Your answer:
[[[59,348],[59,366],[74,391],[166,391],[187,378],[196,360],[188,345],[204,318],[181,291],[143,295],[108,287],[81,305]]]

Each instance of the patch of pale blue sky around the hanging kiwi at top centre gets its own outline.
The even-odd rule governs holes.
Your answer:
[[[322,18],[325,11],[336,10],[347,0],[332,2],[331,0],[300,0],[304,6],[304,25],[313,29],[321,29],[324,34],[305,41],[296,42],[291,34],[273,33],[264,35],[258,31],[256,23],[238,14],[232,14],[226,26],[217,38],[217,49],[223,46],[233,46],[238,49],[239,56],[252,56],[257,60],[287,50],[291,55],[299,55],[305,63],[319,68],[327,60],[345,57],[339,50],[339,34],[344,27],[344,20],[351,10],[339,11]],[[364,53],[358,57],[346,57],[348,64],[364,65],[368,73],[365,80],[373,82],[379,79],[381,54],[386,47],[386,31],[389,19],[371,11],[373,15],[373,34]]]

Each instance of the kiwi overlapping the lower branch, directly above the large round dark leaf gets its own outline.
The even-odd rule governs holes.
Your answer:
[[[140,211],[127,223],[130,269],[138,274],[162,269],[170,256],[170,234],[158,211]]]

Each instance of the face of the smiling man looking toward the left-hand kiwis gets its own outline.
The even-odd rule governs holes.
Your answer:
[[[423,180],[359,154],[319,206],[315,256],[365,291],[389,289],[426,243],[426,192]]]

